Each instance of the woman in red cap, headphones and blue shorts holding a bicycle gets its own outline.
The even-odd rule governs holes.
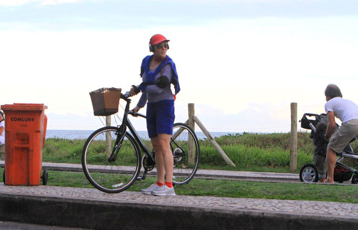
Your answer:
[[[156,196],[175,196],[172,185],[173,155],[169,146],[174,124],[174,98],[180,91],[175,64],[167,55],[168,41],[163,35],[155,34],[149,40],[149,51],[141,65],[142,83],[132,85],[129,93],[141,98],[133,112],[137,113],[147,103],[147,130],[155,152],[155,165],[158,181],[144,194]],[[173,95],[170,84],[174,85]]]

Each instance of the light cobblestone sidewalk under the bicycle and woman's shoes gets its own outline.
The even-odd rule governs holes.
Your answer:
[[[358,204],[321,201],[247,199],[208,196],[156,197],[140,192],[103,193],[97,189],[82,189],[54,186],[4,186],[0,183],[0,193],[29,196],[61,197],[69,199],[105,200],[124,203],[161,204],[171,206],[202,207],[227,210],[258,210],[267,212],[341,216],[357,218]]]

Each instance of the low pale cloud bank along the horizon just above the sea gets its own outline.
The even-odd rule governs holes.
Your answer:
[[[225,114],[223,110],[210,105],[195,104],[195,116],[210,132],[288,132],[290,130],[289,114],[275,110],[270,104],[256,104],[236,114]],[[52,110],[53,111],[53,110]],[[140,111],[145,114],[145,108]],[[96,117],[93,112],[72,112],[58,114],[46,110],[48,129],[96,130],[104,126],[104,117]],[[123,109],[111,116],[112,125],[120,125]],[[281,118],[283,117],[283,118]],[[138,131],[146,130],[145,119],[129,117]],[[175,123],[185,123],[188,119],[186,105],[175,105]],[[196,131],[201,131],[198,126]]]

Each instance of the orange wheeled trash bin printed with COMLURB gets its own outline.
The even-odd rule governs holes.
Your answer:
[[[5,113],[5,181],[6,185],[38,186],[41,181],[42,148],[47,117],[44,104],[2,105]],[[43,184],[47,183],[44,170]],[[45,181],[46,180],[46,181]]]

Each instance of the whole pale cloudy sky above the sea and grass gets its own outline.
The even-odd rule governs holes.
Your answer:
[[[160,33],[181,85],[175,122],[194,103],[211,132],[289,132],[290,104],[298,120],[324,113],[329,83],[358,103],[356,28],[357,1],[0,0],[0,104],[45,104],[48,129],[100,128],[89,92],[139,84]]]

